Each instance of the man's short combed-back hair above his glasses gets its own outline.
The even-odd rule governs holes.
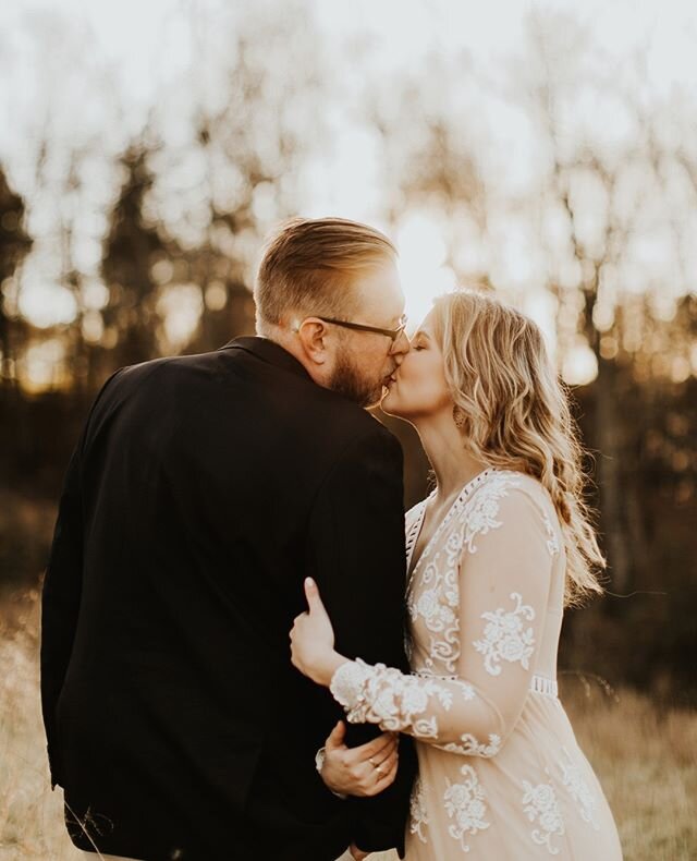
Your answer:
[[[294,218],[268,239],[254,288],[257,326],[291,314],[337,316],[354,311],[356,274],[394,262],[390,240],[344,218]]]

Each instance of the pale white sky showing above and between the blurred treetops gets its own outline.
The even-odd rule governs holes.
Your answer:
[[[241,10],[249,7],[237,5]],[[195,46],[197,39],[216,39],[210,22],[215,24],[216,15],[229,14],[231,8],[235,7],[230,0],[14,0],[0,5],[0,160],[26,197],[29,230],[38,237],[25,266],[22,296],[23,312],[37,325],[69,320],[74,314],[74,301],[52,276],[60,269],[61,250],[51,226],[65,213],[80,225],[76,254],[82,268],[88,276],[93,274],[98,307],[98,296],[103,295],[98,276],[100,242],[107,227],[101,209],[119,183],[117,172],[99,163],[87,165],[83,177],[87,205],[84,198],[70,195],[59,201],[41,197],[34,172],[41,133],[50,129],[52,138],[64,143],[62,150],[57,148],[53,162],[45,167],[58,175],[66,170],[71,148],[99,137],[106,128],[117,131],[105,137],[103,155],[110,149],[117,155],[143,128],[162,93],[194,71],[206,97],[215,99],[216,71]],[[271,0],[258,0],[254,8],[260,15],[273,13]],[[533,9],[542,17],[551,12],[573,13],[592,29],[600,50],[613,58],[617,68],[640,56],[652,96],[670,97],[676,88],[697,86],[694,2],[305,0],[296,9],[316,17],[323,33],[318,50],[341,63],[334,70],[339,82],[334,84],[335,109],[323,118],[334,132],[334,144],[317,155],[303,177],[305,191],[298,209],[306,216],[333,213],[382,226],[384,165],[378,141],[346,109],[346,100],[350,102],[366,81],[407,77],[420,62],[430,62],[429,58],[448,63],[466,54],[496,82],[500,70],[515,60]],[[64,43],[61,51],[54,50],[57,39]],[[224,46],[218,49],[224,50]],[[68,64],[60,59],[65,56],[72,58]],[[3,87],[2,81],[11,86]],[[452,82],[453,93],[458,86],[460,82]],[[481,111],[501,140],[508,136],[515,143],[505,170],[510,183],[524,183],[529,160],[519,155],[525,153],[524,133],[514,112],[496,100],[488,100]],[[173,123],[173,140],[178,133]],[[551,337],[549,303],[534,289],[539,272],[530,263],[525,241],[516,245],[514,233],[511,228],[502,243],[502,257],[493,265],[514,281],[519,276],[521,287],[527,291],[526,310]],[[443,265],[443,225],[432,214],[409,211],[399,225],[395,240],[407,313],[416,320],[428,311],[433,295],[454,286],[452,271]]]

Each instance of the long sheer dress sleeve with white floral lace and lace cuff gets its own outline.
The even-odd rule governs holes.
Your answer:
[[[421,593],[458,610],[460,644],[450,677],[405,675],[360,659],[342,665],[331,681],[350,721],[379,724],[448,751],[494,756],[515,725],[530,687],[545,624],[559,542],[540,502],[510,487],[473,524],[452,531],[458,595]],[[445,555],[447,555],[445,554]]]

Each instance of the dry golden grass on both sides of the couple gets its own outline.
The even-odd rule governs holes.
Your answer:
[[[62,795],[49,787],[36,595],[3,605],[0,618],[0,861],[76,861]],[[697,858],[697,713],[659,710],[646,696],[608,693],[577,677],[563,680],[563,699],[610,800],[626,861]]]

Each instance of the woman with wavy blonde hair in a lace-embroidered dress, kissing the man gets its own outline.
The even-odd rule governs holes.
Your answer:
[[[437,478],[406,517],[412,674],[338,654],[311,582],[293,663],[350,721],[415,738],[408,861],[621,859],[557,695],[563,608],[601,592],[604,561],[539,329],[485,295],[441,298],[382,407]]]

